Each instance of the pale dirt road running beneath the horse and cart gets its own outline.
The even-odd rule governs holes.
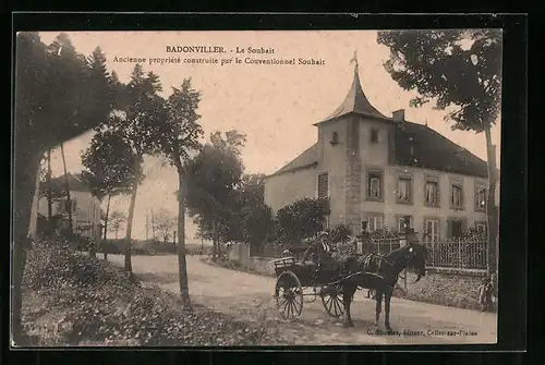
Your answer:
[[[119,255],[110,255],[109,260],[123,265],[123,257]],[[179,293],[177,256],[134,256],[132,260],[134,272],[144,283],[159,284]],[[352,305],[354,327],[347,329],[339,319],[329,317],[319,299],[304,303],[298,321],[279,319],[272,299],[274,278],[214,267],[197,257],[187,257],[187,275],[193,301],[238,317],[265,321],[267,326],[279,326],[282,337],[294,344],[496,342],[497,317],[491,313],[392,299],[390,321],[396,333],[387,336],[384,334],[384,314],[378,327],[383,333],[376,333],[375,302],[364,299],[362,292],[356,292]]]

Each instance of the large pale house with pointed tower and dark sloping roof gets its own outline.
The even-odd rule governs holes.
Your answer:
[[[391,117],[367,100],[358,72],[348,95],[314,124],[317,142],[265,180],[265,202],[276,212],[303,197],[323,198],[328,227],[361,222],[398,231],[411,216],[429,240],[486,230],[486,162],[403,110]]]

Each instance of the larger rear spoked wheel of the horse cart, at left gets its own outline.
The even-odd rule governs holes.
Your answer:
[[[301,316],[303,311],[303,290],[301,281],[291,271],[282,272],[277,281],[275,297],[278,312],[283,319],[293,320]]]

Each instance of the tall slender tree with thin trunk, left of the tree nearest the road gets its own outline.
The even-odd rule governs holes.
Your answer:
[[[145,75],[142,65],[135,64],[131,81],[122,97],[118,98],[122,100],[120,104],[123,113],[112,115],[96,130],[97,134],[116,134],[132,150],[132,179],[126,181],[131,193],[131,203],[129,205],[124,250],[124,267],[129,275],[132,275],[131,247],[134,207],[138,185],[145,178],[142,162],[144,156],[153,154],[154,132],[157,125],[160,125],[165,120],[165,100],[157,94],[161,90],[162,87],[158,76],[152,72]]]

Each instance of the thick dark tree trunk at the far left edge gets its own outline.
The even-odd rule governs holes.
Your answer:
[[[36,179],[39,173],[40,159],[44,151],[28,150],[29,146],[17,148],[15,145],[15,174],[13,183],[13,244],[12,244],[12,292],[11,292],[11,325],[12,341],[23,344],[23,326],[21,317],[22,281],[26,263],[26,252],[31,248],[28,229],[31,226],[33,199],[36,192]],[[37,218],[37,217],[34,217]]]

